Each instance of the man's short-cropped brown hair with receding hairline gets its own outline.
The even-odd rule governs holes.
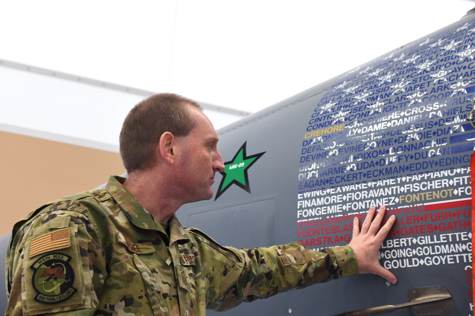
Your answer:
[[[151,95],[130,110],[119,136],[119,151],[128,173],[152,166],[157,143],[164,132],[188,135],[195,122],[187,104],[203,110],[198,102],[175,93]]]

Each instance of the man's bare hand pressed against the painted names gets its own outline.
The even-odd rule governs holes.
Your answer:
[[[391,215],[388,222],[380,229],[381,221],[386,212],[386,206],[381,206],[378,214],[376,214],[376,217],[372,220],[375,212],[376,208],[371,207],[363,225],[361,225],[361,231],[358,217],[354,218],[353,238],[349,246],[352,247],[358,259],[358,273],[377,274],[394,284],[398,280],[389,270],[381,267],[380,260],[378,259],[378,251],[381,243],[396,221],[396,216]]]

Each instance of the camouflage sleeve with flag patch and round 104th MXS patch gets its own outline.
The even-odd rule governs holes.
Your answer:
[[[94,315],[106,258],[102,238],[86,215],[48,208],[12,235],[5,315]]]

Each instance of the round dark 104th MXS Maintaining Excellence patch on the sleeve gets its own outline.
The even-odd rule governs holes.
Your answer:
[[[74,270],[68,261],[71,257],[64,253],[49,253],[33,263],[35,272],[31,282],[38,293],[35,300],[54,304],[70,298],[77,289],[73,288]]]

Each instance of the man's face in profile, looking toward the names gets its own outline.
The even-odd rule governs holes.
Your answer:
[[[224,170],[218,151],[218,134],[208,117],[198,108],[188,106],[195,127],[187,136],[177,138],[182,153],[179,159],[180,179],[190,202],[213,197],[211,185],[217,171]]]

